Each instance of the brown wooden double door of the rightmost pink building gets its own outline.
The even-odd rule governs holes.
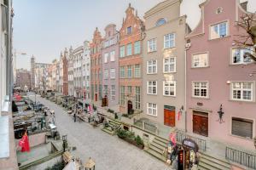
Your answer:
[[[208,136],[208,116],[193,114],[193,133]]]

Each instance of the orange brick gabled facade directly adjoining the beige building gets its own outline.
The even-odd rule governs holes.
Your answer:
[[[142,40],[143,21],[137,11],[129,7],[125,11],[119,31],[119,111],[132,114],[142,110]]]

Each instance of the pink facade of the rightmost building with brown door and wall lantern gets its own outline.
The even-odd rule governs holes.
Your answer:
[[[236,21],[246,11],[238,0],[207,0],[200,8],[201,21],[186,37],[187,131],[255,150],[256,65],[234,43],[244,33]]]

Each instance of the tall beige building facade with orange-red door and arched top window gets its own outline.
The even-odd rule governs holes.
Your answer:
[[[189,27],[179,0],[167,0],[145,13],[143,117],[185,129],[185,42]]]

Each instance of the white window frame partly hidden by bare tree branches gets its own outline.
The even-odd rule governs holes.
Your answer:
[[[236,53],[236,50],[239,50],[239,57],[240,57],[240,62],[234,62],[234,57],[235,57],[235,53]],[[245,48],[231,48],[231,64],[232,65],[247,65],[247,64],[250,64],[250,63],[253,63],[253,59],[249,58],[248,60],[246,60],[244,58],[244,53],[245,51],[250,51],[251,54],[253,54],[253,48],[248,48],[248,49],[245,49]]]

